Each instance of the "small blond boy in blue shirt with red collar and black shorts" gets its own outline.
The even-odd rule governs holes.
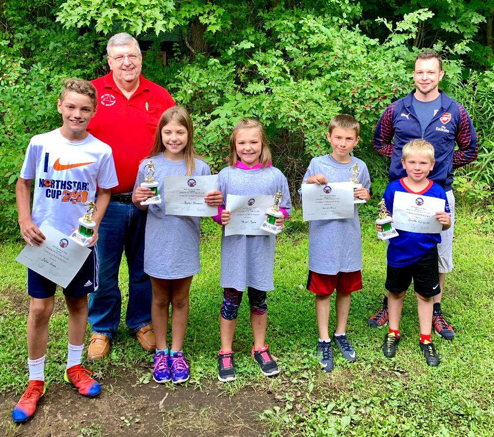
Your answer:
[[[436,212],[435,218],[443,225],[443,230],[448,229],[451,226],[451,218],[446,192],[440,185],[427,179],[435,163],[432,145],[424,140],[410,141],[403,147],[401,162],[407,176],[390,182],[386,187],[383,199],[388,212],[393,213],[396,192],[444,199],[445,210]],[[377,224],[376,228],[381,230]],[[382,343],[382,352],[387,358],[395,356],[396,347],[401,340],[399,324],[403,299],[413,279],[420,324],[420,349],[427,364],[437,366],[439,356],[431,341],[431,328],[432,297],[441,292],[437,252],[441,234],[400,230],[399,236],[388,241],[385,288],[389,291],[389,332]]]

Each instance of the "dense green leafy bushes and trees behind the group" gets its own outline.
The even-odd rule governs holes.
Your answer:
[[[387,162],[371,149],[373,126],[412,89],[413,59],[431,46],[449,59],[442,88],[465,105],[480,134],[479,162],[457,172],[455,188],[466,205],[485,207],[494,184],[494,57],[479,37],[487,2],[446,1],[429,10],[388,0],[395,15],[378,18],[381,3],[0,0],[0,239],[18,235],[15,180],[30,137],[60,123],[63,79],[105,74],[107,38],[123,30],[156,40],[144,74],[192,113],[196,148],[214,170],[225,163],[237,120],[255,117],[292,190],[310,157],[329,151],[326,125],[343,112],[360,121],[355,153],[368,164],[373,192],[383,191]],[[171,30],[181,39],[163,67],[159,40]],[[191,46],[194,38],[201,50]],[[374,213],[372,203],[366,208]]]

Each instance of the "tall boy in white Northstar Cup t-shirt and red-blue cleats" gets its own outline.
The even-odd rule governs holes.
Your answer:
[[[98,197],[89,240],[91,253],[71,283],[63,290],[69,312],[69,353],[64,375],[79,393],[95,396],[99,384],[81,367],[87,324],[87,294],[98,287],[98,226],[110,201],[110,188],[118,184],[110,146],[94,138],[86,127],[96,113],[96,89],[82,79],[68,79],[57,102],[62,114],[60,129],[35,135],[29,142],[21,174],[15,187],[21,235],[30,246],[41,245],[45,236],[42,221],[69,235],[87,210],[86,202]],[[33,211],[30,212],[31,182],[34,179]],[[63,239],[64,244],[70,240]],[[48,321],[53,310],[56,284],[28,269],[31,297],[27,323],[29,386],[12,411],[14,422],[25,422],[44,395],[44,359],[48,343]]]

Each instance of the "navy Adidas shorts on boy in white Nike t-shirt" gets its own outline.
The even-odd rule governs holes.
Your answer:
[[[74,279],[63,294],[68,297],[80,297],[98,289],[98,251],[89,247],[91,253],[82,264]],[[41,276],[30,268],[28,270],[28,295],[36,299],[46,299],[55,294],[57,284]]]

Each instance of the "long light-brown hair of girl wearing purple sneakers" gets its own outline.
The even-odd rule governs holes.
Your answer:
[[[181,106],[172,106],[161,115],[158,127],[156,128],[155,140],[147,158],[152,158],[165,151],[166,147],[165,144],[163,144],[161,131],[172,121],[187,129],[187,144],[184,148],[184,162],[187,167],[187,174],[185,176],[190,176],[196,168],[195,159],[198,158],[202,161],[204,161],[204,159],[197,154],[196,149],[194,148],[194,125],[190,118],[190,114],[187,109],[182,108]]]

